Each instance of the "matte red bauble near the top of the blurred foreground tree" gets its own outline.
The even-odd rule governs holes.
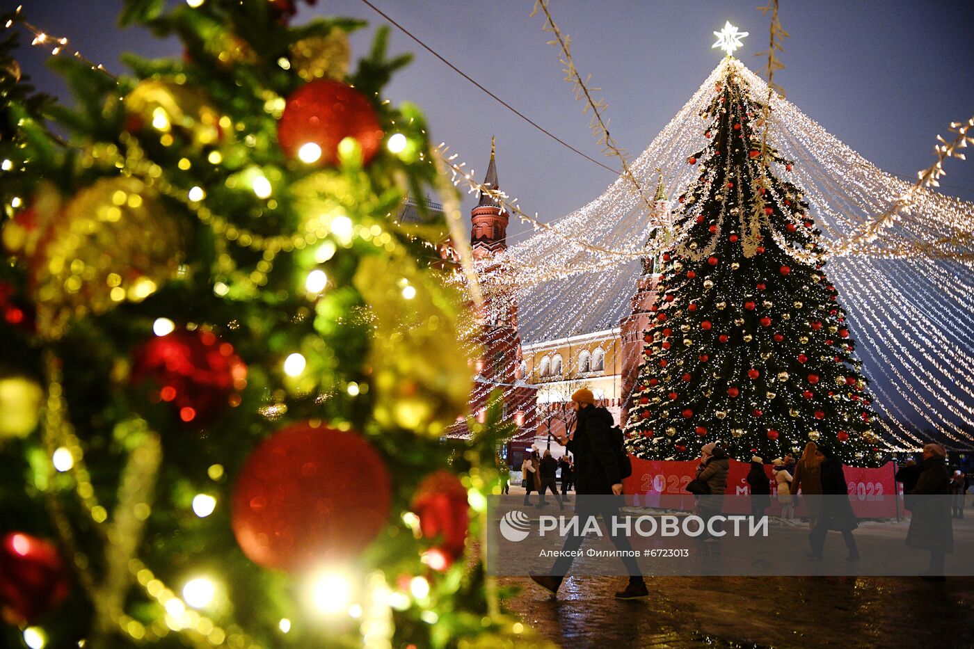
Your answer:
[[[369,100],[354,88],[330,79],[316,79],[297,89],[284,104],[278,141],[294,159],[305,144],[321,147],[318,164],[338,164],[338,143],[353,137],[365,164],[382,144],[382,127]]]

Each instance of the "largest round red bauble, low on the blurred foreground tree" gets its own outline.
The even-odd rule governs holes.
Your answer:
[[[356,433],[291,424],[250,455],[234,487],[244,554],[303,572],[355,558],[382,530],[392,500],[386,463]]]

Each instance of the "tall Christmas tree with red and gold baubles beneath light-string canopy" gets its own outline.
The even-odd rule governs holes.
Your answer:
[[[701,114],[706,146],[687,160],[699,175],[660,235],[674,244],[661,255],[629,448],[692,460],[720,441],[738,460],[770,461],[811,440],[846,464],[877,466],[872,398],[821,231],[738,66],[725,60]]]

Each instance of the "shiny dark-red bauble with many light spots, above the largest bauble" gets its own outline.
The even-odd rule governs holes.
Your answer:
[[[151,380],[150,400],[167,401],[189,425],[216,419],[228,404],[239,403],[246,365],[233,345],[210,331],[173,331],[155,336],[134,354],[131,383]]]

